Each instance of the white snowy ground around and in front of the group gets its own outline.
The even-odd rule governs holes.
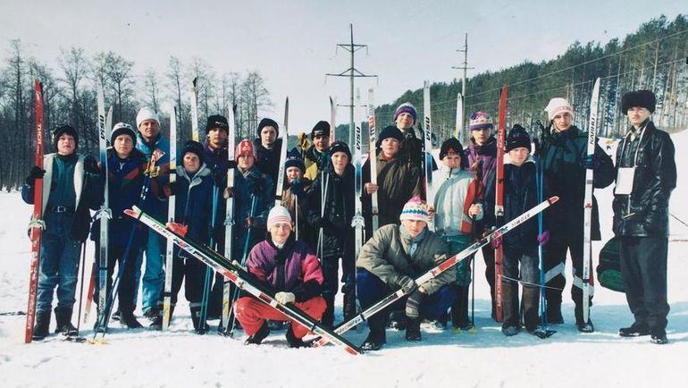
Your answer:
[[[688,220],[688,131],[674,136],[679,187],[672,214]],[[613,149],[612,149],[613,150]],[[686,154],[683,154],[686,152]],[[611,189],[596,191],[602,233],[611,236]],[[17,193],[0,194],[0,314],[26,310],[30,208]],[[189,310],[177,309],[169,333],[127,331],[113,324],[106,345],[63,342],[23,343],[25,316],[0,315],[0,378],[3,386],[680,386],[688,359],[688,227],[671,220],[668,285],[670,343],[653,345],[647,337],[617,336],[632,322],[623,294],[597,287],[592,319],[597,331],[581,334],[573,325],[573,304],[564,308],[565,325],[539,340],[526,333],[506,338],[489,318],[489,291],[476,260],[475,320],[478,333],[424,332],[424,341],[408,344],[403,333],[389,332],[388,345],[360,357],[328,346],[291,350],[284,333],[264,345],[246,347],[242,338],[192,333]],[[595,245],[595,260],[600,243]],[[89,246],[88,254],[91,255]],[[92,256],[90,256],[92,257]],[[567,269],[570,273],[570,268]],[[183,299],[183,298],[182,298]],[[183,303],[183,302],[182,302]],[[92,318],[91,318],[92,320]],[[53,323],[55,325],[55,323]],[[85,325],[82,333],[90,334]],[[363,342],[365,330],[347,333]],[[240,335],[243,337],[243,335]]]

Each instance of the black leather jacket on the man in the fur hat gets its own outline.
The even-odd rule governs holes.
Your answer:
[[[634,165],[635,171],[631,195],[614,195],[612,207],[617,236],[668,236],[669,197],[676,187],[674,152],[674,143],[667,132],[660,131],[650,121],[641,136],[631,140],[629,131],[621,140],[616,169]]]

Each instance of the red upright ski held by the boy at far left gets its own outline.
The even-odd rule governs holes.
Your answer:
[[[43,168],[43,84],[34,81],[34,104],[36,105],[36,152],[34,162]],[[33,339],[33,324],[36,320],[36,299],[38,296],[38,266],[40,266],[41,232],[46,227],[43,217],[43,178],[34,181],[33,186],[33,216],[29,222],[31,238],[31,263],[29,271],[29,305],[26,308],[26,330],[24,342]]]

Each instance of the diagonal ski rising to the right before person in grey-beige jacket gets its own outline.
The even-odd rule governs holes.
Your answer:
[[[544,209],[552,206],[554,203],[556,203],[559,200],[558,197],[550,197],[549,199],[542,201],[540,204],[536,205],[535,207],[531,208],[530,210],[526,211],[524,214],[517,216],[513,220],[509,221],[507,224],[502,225],[499,227],[499,229],[492,230],[490,234],[487,236],[483,237],[480,240],[477,240],[471,245],[470,247],[462,250],[461,252],[458,252],[456,255],[449,257],[445,259],[444,261],[440,262],[437,266],[432,267],[429,271],[426,273],[418,276],[415,278],[415,284],[416,285],[421,285],[425,282],[428,282],[429,280],[439,276],[441,273],[444,271],[447,271],[449,268],[457,265],[459,262],[462,260],[466,259],[467,257],[471,257],[475,252],[477,252],[479,249],[484,247],[485,245],[491,243],[493,240],[500,239],[501,236],[504,234],[512,231],[514,228],[516,228],[518,225],[523,224],[525,221],[529,220],[535,215],[540,214]],[[337,334],[342,334],[346,333],[349,329],[352,327],[362,323],[365,321],[367,318],[375,315],[379,311],[381,311],[383,308],[387,308],[390,306],[390,304],[394,303],[395,301],[403,298],[406,295],[406,293],[399,289],[398,291],[394,291],[390,293],[388,296],[380,299],[377,303],[373,304],[373,306],[366,308],[365,311],[359,313],[357,316],[354,316],[353,318],[349,319],[347,322],[337,326],[337,328],[334,329],[334,333]],[[314,346],[323,346],[325,343],[327,343],[329,340],[325,338],[320,338],[314,342]]]

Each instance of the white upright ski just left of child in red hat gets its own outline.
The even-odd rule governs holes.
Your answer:
[[[227,136],[227,160],[230,168],[227,170],[227,189],[234,189],[234,143],[236,141],[234,135],[236,132],[236,123],[234,121],[235,106],[227,109],[227,122],[230,124],[230,130]],[[226,210],[224,214],[224,257],[231,257],[231,237],[232,229],[234,227],[234,198],[228,197],[226,201]],[[219,333],[228,333],[226,328],[230,325],[230,281],[223,278],[222,282],[222,318],[220,325],[222,330]]]

